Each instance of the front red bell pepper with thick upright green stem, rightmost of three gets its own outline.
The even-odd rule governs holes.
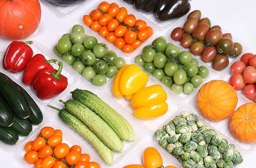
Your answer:
[[[44,68],[35,77],[32,88],[39,99],[51,99],[67,88],[68,79],[60,74],[62,62],[59,62],[58,65],[58,70],[52,67]]]

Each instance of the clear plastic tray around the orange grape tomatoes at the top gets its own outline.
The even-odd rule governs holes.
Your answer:
[[[113,46],[113,47],[115,48],[114,51],[117,51],[117,50],[119,50],[119,49],[116,48],[116,47],[114,46],[114,44],[110,43],[110,42],[107,41],[105,38],[101,37],[98,32],[94,32],[93,30],[91,30],[91,29],[90,29],[89,27],[87,27],[87,26],[84,24],[84,22],[83,22],[83,16],[84,16],[84,15],[89,15],[89,13],[90,13],[91,11],[93,11],[93,10],[95,10],[95,9],[98,9],[98,5],[99,5],[100,2],[101,2],[101,1],[98,1],[98,3],[96,3],[96,4],[95,4],[94,6],[92,6],[89,10],[87,10],[84,14],[82,14],[82,16],[81,16],[81,18],[80,18],[80,21],[81,21],[80,24],[83,25],[83,27],[85,27],[85,32],[88,32],[88,31],[86,30],[86,29],[88,29],[88,30],[91,32],[91,33],[88,33],[88,34],[91,34],[92,36],[95,36],[95,37],[96,37],[96,34],[97,34],[98,37],[100,37],[101,39],[103,39],[103,41],[104,41],[105,44],[107,44],[109,47],[110,47],[110,46]],[[117,1],[115,1],[115,0],[108,0],[108,2],[109,2],[109,3],[115,2],[115,3],[117,3],[117,5],[118,5],[119,7],[124,6],[124,7],[127,9],[127,11],[128,11],[128,15],[129,15],[129,14],[133,14],[133,15],[136,17],[137,20],[138,20],[138,19],[144,20],[144,21],[147,23],[147,26],[150,26],[150,27],[153,29],[154,34],[155,34],[155,32],[157,31],[157,28],[156,28],[155,24],[154,24],[151,20],[149,20],[148,18],[146,18],[146,17],[144,17],[144,16],[138,14],[138,11],[136,11],[134,8],[128,6],[127,3],[125,3],[124,1],[119,0],[119,1],[117,2]],[[154,34],[153,34],[152,36],[150,36],[146,41],[144,41],[137,49],[135,49],[135,50],[134,50],[133,52],[131,52],[131,53],[124,53],[124,52],[122,52],[122,50],[119,50],[119,51],[122,53],[122,55],[131,56],[131,55],[133,55],[135,52],[137,52],[138,50],[140,50],[140,49],[142,48],[142,46],[144,45],[145,42],[151,41],[151,40],[152,40],[152,37],[154,36]],[[96,37],[96,38],[97,38],[99,41],[102,41],[102,40],[100,40],[100,38],[98,38],[98,37]]]

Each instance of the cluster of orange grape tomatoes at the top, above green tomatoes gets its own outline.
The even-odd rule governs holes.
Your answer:
[[[137,20],[125,7],[106,1],[101,2],[97,10],[84,15],[83,22],[124,53],[133,52],[153,34],[144,20]]]

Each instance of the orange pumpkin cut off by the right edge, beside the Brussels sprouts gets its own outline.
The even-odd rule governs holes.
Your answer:
[[[246,103],[238,107],[230,118],[230,129],[243,142],[256,142],[256,103]]]

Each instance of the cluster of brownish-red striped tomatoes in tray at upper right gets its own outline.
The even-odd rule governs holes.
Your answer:
[[[243,47],[233,42],[230,33],[222,33],[220,26],[211,27],[209,18],[201,18],[201,11],[195,10],[187,16],[183,28],[177,27],[171,32],[171,38],[181,41],[181,46],[189,48],[194,55],[201,55],[203,62],[212,62],[216,71],[225,69],[228,57],[238,57]]]

